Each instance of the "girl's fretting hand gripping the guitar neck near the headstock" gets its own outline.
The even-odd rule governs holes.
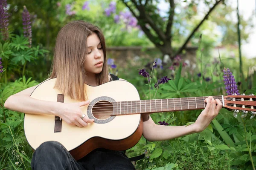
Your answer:
[[[222,108],[221,101],[219,99],[215,100],[212,96],[209,96],[204,101],[207,105],[194,124],[196,132],[202,132],[205,130]]]

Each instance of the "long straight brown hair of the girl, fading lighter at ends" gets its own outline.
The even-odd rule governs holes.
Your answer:
[[[98,35],[104,54],[102,72],[96,75],[96,83],[100,85],[109,81],[105,37],[102,31],[82,20],[72,21],[58,32],[56,39],[50,78],[56,78],[54,88],[79,101],[87,99],[84,62],[87,55],[87,37],[93,33]]]

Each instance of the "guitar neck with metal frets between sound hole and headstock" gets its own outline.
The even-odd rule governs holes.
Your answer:
[[[223,95],[212,96],[224,102]],[[140,101],[116,101],[113,104],[113,115],[131,115],[139,113],[172,112],[180,110],[204,109],[207,97],[168,98]]]

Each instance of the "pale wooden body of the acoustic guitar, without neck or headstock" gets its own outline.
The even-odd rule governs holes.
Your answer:
[[[55,79],[44,81],[32,92],[31,97],[44,101],[57,101],[57,96],[61,92],[53,88],[54,84]],[[95,122],[88,124],[87,127],[77,127],[62,121],[61,132],[55,132],[54,115],[25,114],[24,131],[32,149],[35,150],[45,141],[58,141],[76,160],[79,160],[96,148],[127,150],[137,144],[143,132],[141,115],[109,116],[114,109],[111,107],[111,102],[140,100],[137,89],[122,80],[100,86],[85,84],[85,88],[90,104],[81,109]],[[79,101],[64,96],[64,103],[73,102]],[[100,103],[107,105],[101,109]],[[108,112],[101,111],[104,109]]]

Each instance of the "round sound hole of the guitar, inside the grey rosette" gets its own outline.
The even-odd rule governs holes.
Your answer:
[[[92,114],[97,119],[107,119],[113,115],[113,104],[109,101],[98,101],[93,106]]]

